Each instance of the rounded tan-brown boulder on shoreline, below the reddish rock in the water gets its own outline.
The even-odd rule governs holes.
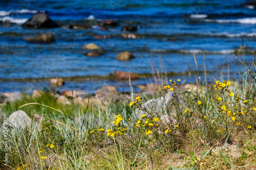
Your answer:
[[[119,100],[120,94],[116,87],[114,86],[103,86],[100,87],[96,92],[95,95],[99,99],[113,99],[114,101]]]

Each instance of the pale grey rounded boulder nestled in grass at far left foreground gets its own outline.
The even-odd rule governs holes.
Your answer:
[[[23,110],[13,112],[8,118],[8,125],[11,127],[29,127],[32,123],[32,119]]]

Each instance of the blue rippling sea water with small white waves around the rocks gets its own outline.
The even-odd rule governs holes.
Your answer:
[[[45,78],[52,77],[67,78],[59,90],[94,91],[103,85],[115,85],[121,91],[129,91],[129,82],[108,79],[115,70],[139,74],[172,72],[169,78],[195,81],[194,73],[189,77],[188,64],[191,71],[202,72],[206,65],[208,81],[220,75],[227,79],[228,71],[230,77],[237,77],[244,70],[239,58],[249,64],[256,44],[256,10],[242,6],[244,2],[2,0],[0,91],[49,87]],[[23,29],[22,23],[37,12],[47,13],[61,28]],[[101,30],[99,23],[105,19],[116,20],[118,26]],[[93,29],[67,29],[71,23],[91,25]],[[121,27],[126,25],[139,28],[136,34],[141,38],[122,38]],[[56,42],[35,44],[23,40],[46,32],[52,33]],[[110,38],[95,39],[95,35]],[[240,50],[242,37],[246,50]],[[100,46],[103,55],[84,56],[82,46],[87,43]],[[117,60],[118,53],[124,51],[136,58]],[[133,81],[133,85],[148,82],[154,80],[142,78]]]

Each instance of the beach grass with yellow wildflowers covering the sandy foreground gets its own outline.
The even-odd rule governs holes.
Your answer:
[[[50,92],[38,98],[24,95],[1,105],[3,113],[24,110],[42,119],[30,127],[8,128],[8,166],[2,161],[0,168],[253,169],[254,68],[252,63],[239,80],[201,82],[189,89],[182,80],[170,80],[156,96],[96,100],[86,106],[59,104]],[[171,100],[165,98],[168,92]],[[160,105],[145,107],[158,97]],[[1,144],[1,156],[5,153]]]

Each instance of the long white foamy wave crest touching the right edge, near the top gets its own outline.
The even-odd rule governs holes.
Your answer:
[[[256,24],[256,17],[239,19],[204,19],[206,22]]]

